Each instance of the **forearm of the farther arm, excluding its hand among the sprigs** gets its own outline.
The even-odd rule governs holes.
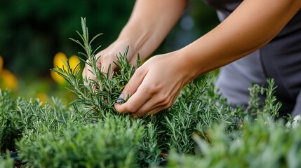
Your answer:
[[[187,0],[138,0],[116,41],[128,41],[132,54],[139,52],[145,59],[158,48],[186,6]]]

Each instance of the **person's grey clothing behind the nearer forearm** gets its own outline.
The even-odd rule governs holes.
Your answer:
[[[241,1],[203,0],[218,10],[220,21]],[[229,104],[248,104],[251,83],[267,85],[274,78],[280,116],[301,113],[301,10],[267,45],[220,69],[216,85]]]

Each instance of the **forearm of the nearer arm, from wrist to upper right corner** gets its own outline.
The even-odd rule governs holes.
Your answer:
[[[178,50],[178,55],[195,78],[261,48],[298,10],[300,0],[245,0],[218,27]]]

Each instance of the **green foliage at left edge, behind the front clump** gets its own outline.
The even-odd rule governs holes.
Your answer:
[[[40,125],[51,130],[59,128],[67,122],[92,123],[95,122],[94,113],[76,113],[81,106],[67,108],[60,99],[53,98],[53,106],[44,104],[39,99],[25,101],[22,98],[12,99],[10,92],[0,92],[0,144],[1,153],[6,149],[15,151],[15,140],[22,137],[22,132],[42,132]]]

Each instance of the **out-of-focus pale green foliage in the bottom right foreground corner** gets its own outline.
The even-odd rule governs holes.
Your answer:
[[[198,155],[170,153],[168,167],[300,167],[300,125],[294,129],[260,114],[246,119],[239,132],[225,132],[225,125],[208,130],[210,144],[194,135]]]

